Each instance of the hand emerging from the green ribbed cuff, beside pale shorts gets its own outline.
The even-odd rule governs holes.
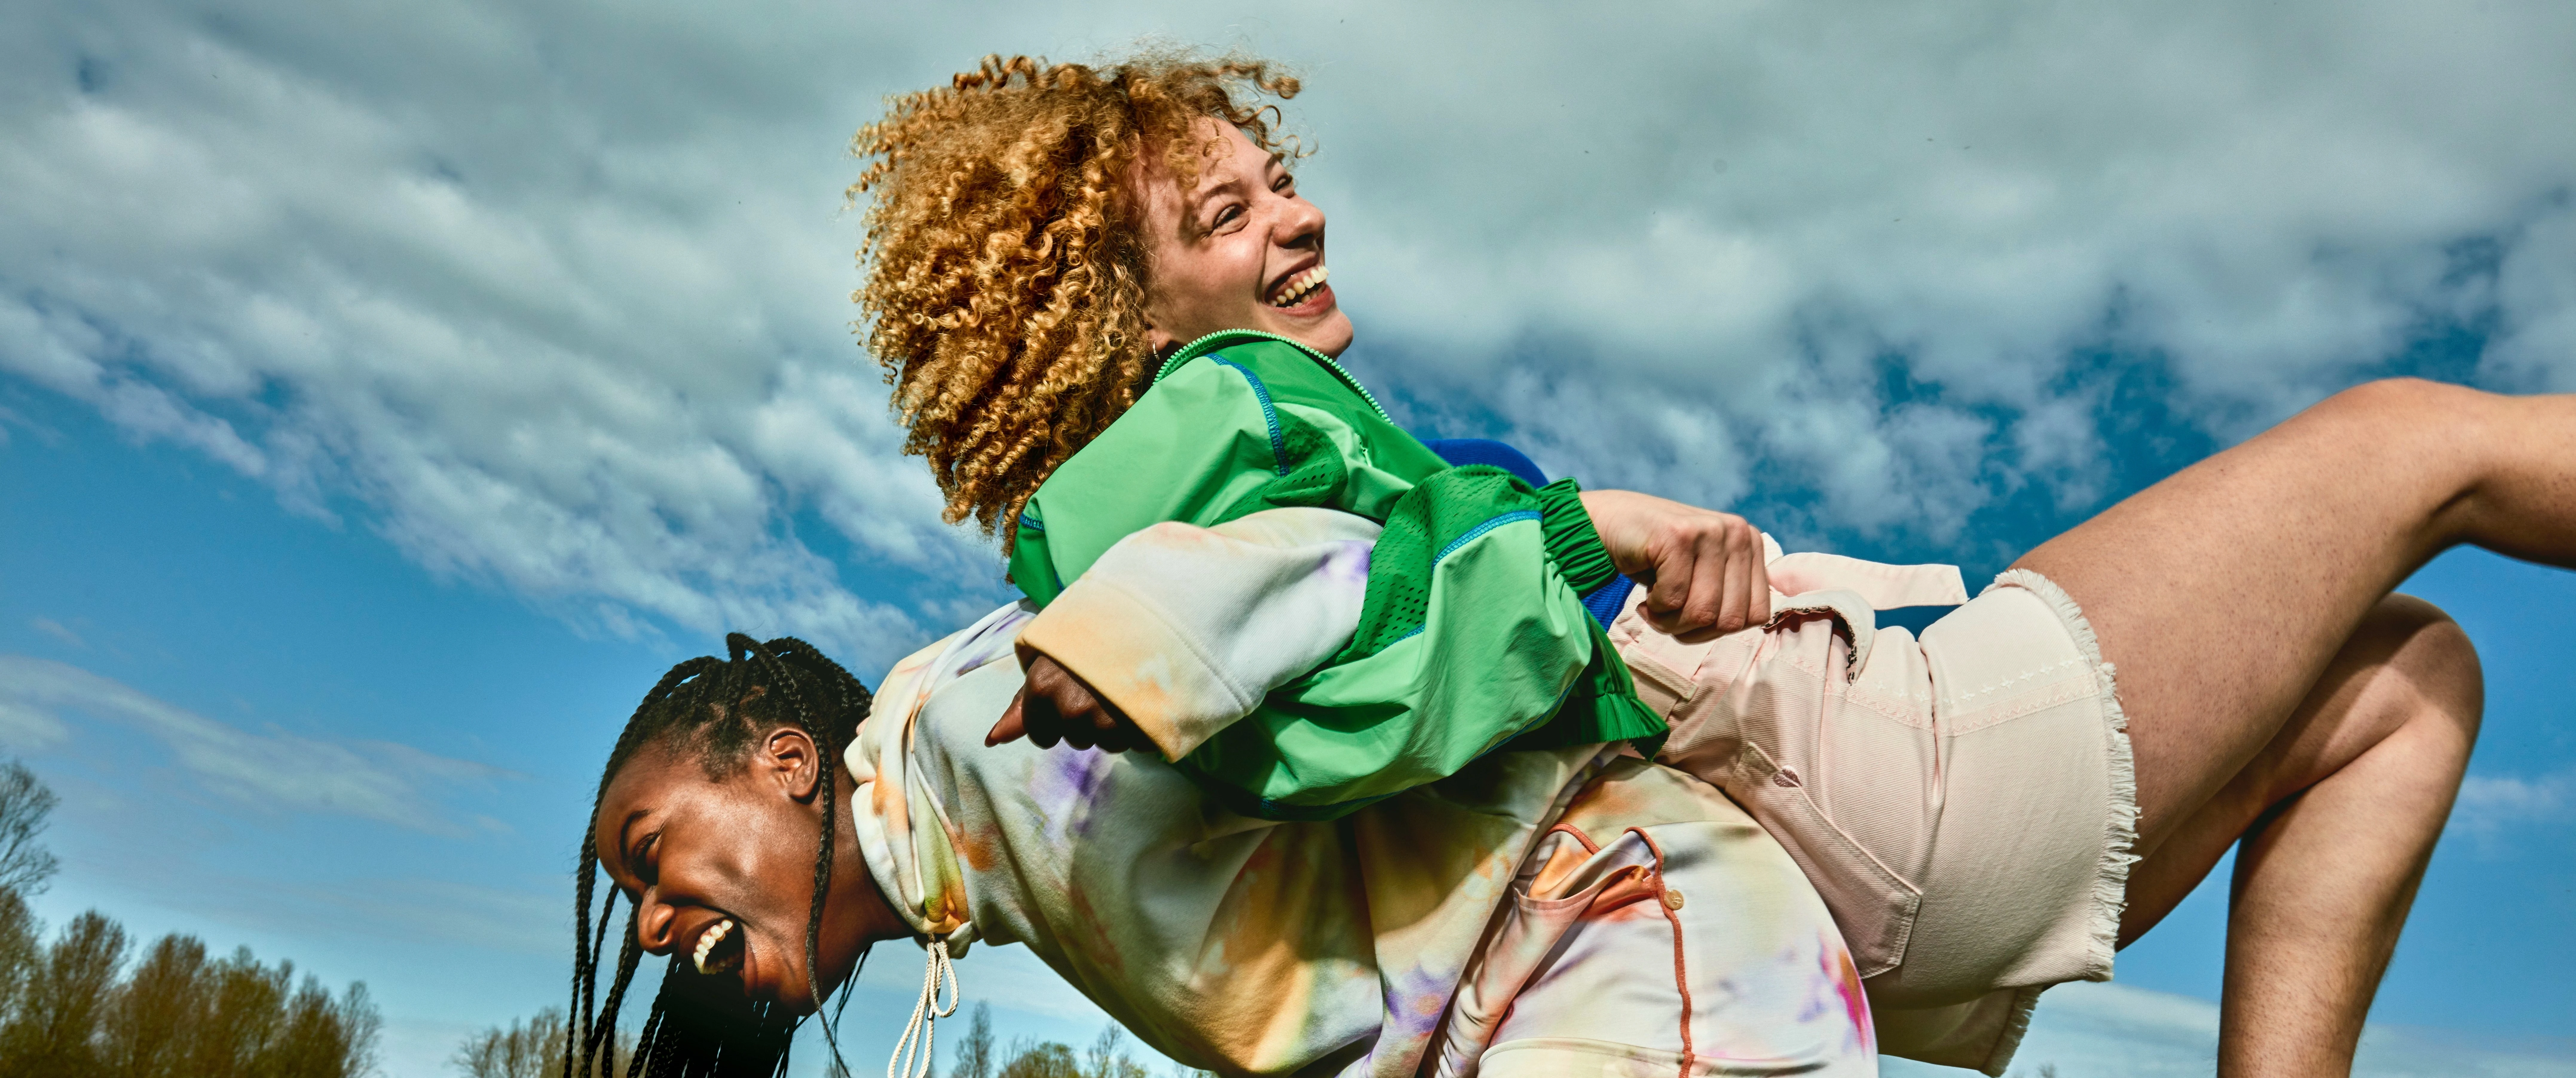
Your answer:
[[[1731,512],[1636,491],[1584,491],[1610,561],[1646,587],[1646,623],[1672,635],[1770,620],[1762,533]]]

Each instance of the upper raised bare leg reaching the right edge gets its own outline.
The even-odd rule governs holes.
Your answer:
[[[2048,574],[2084,605],[2105,659],[2120,669],[2138,762],[2138,854],[2154,859],[2282,741],[2378,602],[2455,543],[2576,563],[2576,399],[2506,399],[2421,381],[2360,386],[2025,556],[2020,566]],[[2316,813],[2285,810],[2257,839],[2259,862],[2277,857],[2269,849],[2293,849],[2295,862],[2313,841],[2334,846],[2334,857],[2357,857],[2354,844],[2370,841],[2336,844],[2287,826],[2293,816]],[[2254,872],[2259,882],[2264,870]],[[2133,882],[2130,893],[2151,898],[2141,888]],[[2411,895],[2411,882],[2403,893]],[[2334,908],[2334,916],[2396,924],[2403,895],[2391,900],[2396,908]],[[2161,916],[2172,903],[2141,906]],[[2282,947],[2298,949],[2254,944],[2269,960]],[[2262,978],[2267,970],[2231,962],[2231,985]],[[2375,985],[2375,975],[2365,980]],[[2360,996],[2354,985],[2303,991],[2336,996],[2311,1011],[2347,1014],[2367,1006],[2370,985],[2357,985]],[[2331,1037],[2331,1029],[2287,1034]],[[2262,1060],[2236,1070],[2342,1073]]]

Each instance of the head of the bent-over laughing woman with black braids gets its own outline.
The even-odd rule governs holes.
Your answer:
[[[850,831],[840,821],[848,816],[850,780],[835,767],[858,723],[868,718],[868,690],[796,638],[760,643],[732,633],[726,651],[729,659],[701,656],[662,674],[608,751],[592,808],[598,826],[582,834],[582,867],[574,875],[577,1029],[567,1039],[567,1075],[574,1065],[582,1075],[605,1073],[618,1011],[652,939],[693,931],[701,939],[693,955],[698,967],[732,978],[724,983],[665,978],[636,1042],[636,1068],[654,1075],[768,1075],[786,1060],[788,1037],[804,1011],[799,1001],[817,996],[806,970],[855,965],[853,929],[855,939],[868,939],[871,929],[899,929],[891,913],[876,926],[866,921],[866,913],[881,911],[884,903],[842,903],[840,916],[832,916],[829,903],[835,893],[848,898],[876,890],[848,849]],[[747,782],[770,782],[786,798],[711,800]],[[791,823],[773,826],[775,821],[760,818],[781,810]],[[804,834],[804,823],[814,831]],[[703,831],[690,828],[770,841],[711,844],[701,841]],[[732,888],[690,893],[688,885],[701,882],[701,867],[690,857],[721,859]],[[608,998],[600,1003],[600,960],[618,903],[618,895],[611,895],[595,908],[592,888],[603,864],[631,900],[688,895],[701,906],[760,906],[770,913],[775,895],[801,890],[804,916],[781,908],[775,916],[708,931],[708,921],[680,924],[675,906],[652,906],[652,916],[636,906],[618,942]],[[657,888],[670,877],[683,880],[677,893]],[[755,934],[760,947],[750,947]],[[719,942],[724,955],[714,957]],[[752,962],[755,955],[760,962]]]

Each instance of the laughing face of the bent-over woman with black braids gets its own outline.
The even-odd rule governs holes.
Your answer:
[[[806,921],[822,798],[814,741],[778,728],[742,767],[711,780],[685,751],[654,744],[600,792],[590,834],[600,867],[636,898],[636,942],[685,955],[706,975],[737,978],[752,1001],[814,1009]],[[840,787],[829,908],[822,918],[822,983],[840,985],[873,939],[909,931],[868,877],[850,826],[853,785]]]

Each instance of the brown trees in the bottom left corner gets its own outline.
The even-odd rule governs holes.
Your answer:
[[[0,767],[0,1075],[8,1078],[358,1078],[384,1019],[353,983],[332,996],[247,947],[206,957],[196,936],[139,952],[88,911],[52,942],[26,906],[54,857],[33,839],[54,792]],[[131,960],[131,962],[129,962]]]

